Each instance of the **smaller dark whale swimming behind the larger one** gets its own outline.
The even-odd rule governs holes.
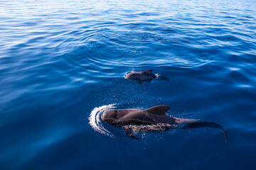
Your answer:
[[[167,77],[162,77],[159,74],[151,73],[153,69],[146,69],[144,72],[129,72],[125,75],[125,79],[137,81],[139,84],[148,81],[151,82],[153,79],[169,81]],[[170,84],[170,81],[169,81]]]

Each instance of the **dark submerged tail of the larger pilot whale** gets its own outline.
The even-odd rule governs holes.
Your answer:
[[[223,127],[221,125],[219,125],[218,123],[199,121],[199,120],[191,120],[191,121],[185,120],[182,124],[183,124],[183,129],[191,129],[191,128],[217,128],[217,129],[220,129],[225,135],[225,142],[227,143],[227,147],[228,147],[227,132],[225,132],[225,130],[223,130]]]

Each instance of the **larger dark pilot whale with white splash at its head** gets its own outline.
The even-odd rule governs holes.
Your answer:
[[[128,109],[110,109],[102,113],[103,121],[110,125],[115,125],[124,129],[124,132],[136,140],[139,140],[133,133],[134,130],[148,131],[164,131],[175,128],[218,128],[225,135],[225,141],[228,146],[227,133],[218,123],[206,122],[201,120],[174,118],[166,115],[166,111],[171,109],[170,106],[154,106],[146,110],[128,108]]]

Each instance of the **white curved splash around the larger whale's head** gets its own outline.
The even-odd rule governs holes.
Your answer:
[[[108,135],[110,137],[113,137],[112,133],[104,128],[104,126],[102,125],[102,121],[100,119],[100,115],[107,109],[111,109],[111,108],[116,108],[116,104],[110,104],[110,105],[94,108],[92,110],[92,113],[90,113],[89,124],[92,126],[92,128],[95,131],[100,132],[103,135]]]

